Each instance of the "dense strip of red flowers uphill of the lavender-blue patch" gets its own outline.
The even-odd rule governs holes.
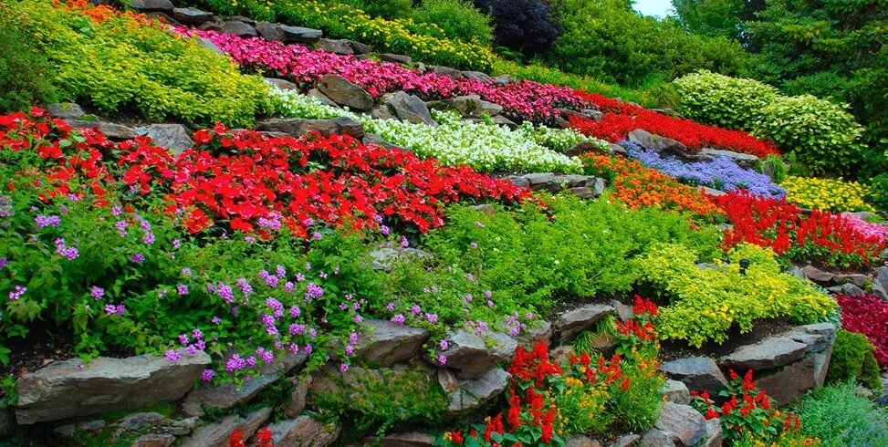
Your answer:
[[[625,140],[632,130],[642,129],[661,137],[677,140],[691,149],[713,147],[744,152],[757,157],[779,153],[774,143],[757,140],[742,130],[705,126],[692,120],[669,117],[601,95],[580,91],[576,93],[581,99],[595,104],[602,111],[610,112],[605,113],[601,121],[589,120],[580,116],[569,118],[571,127],[592,137],[618,142]]]

